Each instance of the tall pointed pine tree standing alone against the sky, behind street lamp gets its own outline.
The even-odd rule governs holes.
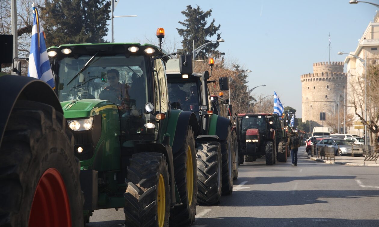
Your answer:
[[[195,48],[210,42],[207,37],[212,37],[215,34],[217,35],[217,39],[221,38],[221,33],[217,33],[220,29],[221,25],[215,25],[215,19],[207,26],[207,18],[211,16],[212,10],[208,10],[206,12],[200,9],[200,6],[197,8],[192,8],[191,5],[187,6],[185,11],[182,11],[182,14],[187,18],[184,22],[180,22],[184,28],[177,28],[180,36],[183,37],[182,45],[184,51],[188,53],[192,53],[192,42],[195,41]],[[219,43],[215,42],[207,45],[200,51],[197,55],[199,59],[207,58],[207,53],[212,53],[215,57],[220,57],[225,53],[221,53],[216,48]]]

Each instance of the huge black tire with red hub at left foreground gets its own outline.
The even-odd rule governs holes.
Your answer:
[[[80,164],[62,113],[47,104],[17,101],[0,146],[0,226],[83,226]]]

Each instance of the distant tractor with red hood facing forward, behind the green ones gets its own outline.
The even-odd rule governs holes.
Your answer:
[[[255,161],[264,156],[266,165],[276,163],[276,131],[272,113],[238,114],[237,132],[240,162]]]

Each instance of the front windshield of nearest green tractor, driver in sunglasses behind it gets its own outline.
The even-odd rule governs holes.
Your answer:
[[[138,112],[147,103],[146,60],[125,54],[66,57],[59,61],[57,95],[60,101],[108,100]],[[88,62],[89,61],[89,62]],[[88,62],[79,75],[77,73]],[[75,75],[77,75],[75,77]]]

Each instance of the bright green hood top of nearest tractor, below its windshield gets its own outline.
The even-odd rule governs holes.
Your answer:
[[[103,109],[118,110],[117,106],[110,101],[95,99],[65,101],[61,102],[61,106],[64,117],[67,119],[91,117],[99,114],[99,111]]]

